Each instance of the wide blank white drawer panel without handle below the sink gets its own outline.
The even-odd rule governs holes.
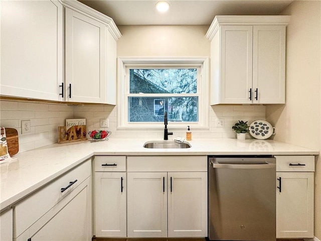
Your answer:
[[[132,156],[127,172],[207,172],[207,156]]]

